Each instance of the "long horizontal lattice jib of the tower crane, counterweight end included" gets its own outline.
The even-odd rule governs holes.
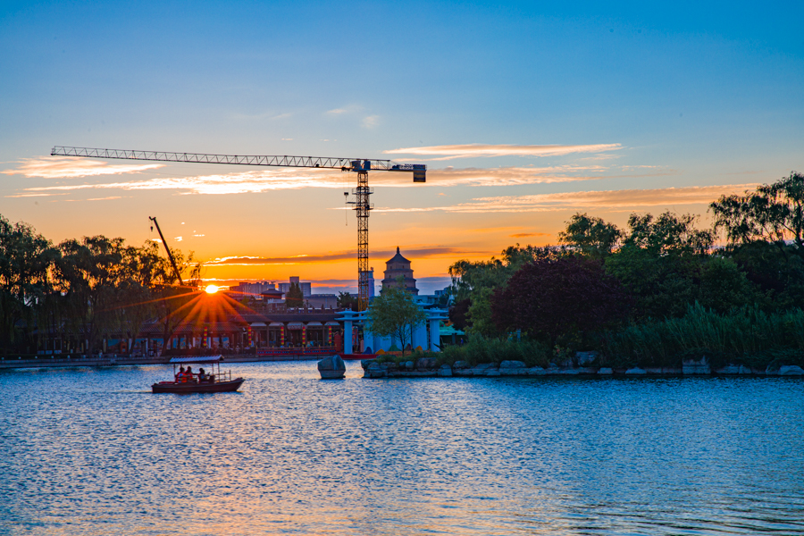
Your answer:
[[[372,158],[335,158],[329,156],[289,155],[208,155],[205,153],[171,153],[165,151],[136,151],[128,149],[98,149],[90,147],[53,147],[52,156],[84,158],[114,158],[119,160],[150,160],[155,162],[222,163],[232,165],[264,165],[275,167],[307,167],[340,170],[342,172],[413,172],[414,182],[425,182],[427,166],[421,163],[396,163]]]

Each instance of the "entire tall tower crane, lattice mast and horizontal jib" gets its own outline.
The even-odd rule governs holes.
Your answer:
[[[413,172],[414,182],[425,182],[427,166],[421,163],[395,163],[373,158],[332,158],[322,156],[270,156],[270,155],[206,155],[202,153],[169,153],[162,151],[131,151],[88,147],[53,147],[53,156],[80,156],[118,160],[149,160],[156,162],[222,163],[236,165],[263,165],[272,167],[303,167],[340,170],[357,173],[355,196],[357,213],[357,309],[364,311],[369,302],[368,217],[373,205],[373,193],[368,185],[368,172]]]

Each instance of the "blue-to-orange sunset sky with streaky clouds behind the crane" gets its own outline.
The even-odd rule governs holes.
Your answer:
[[[0,214],[203,277],[356,289],[354,173],[54,146],[424,163],[370,172],[370,265],[421,293],[573,214],[700,214],[804,171],[804,4],[0,3]]]

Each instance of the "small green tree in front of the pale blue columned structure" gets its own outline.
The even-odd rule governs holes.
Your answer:
[[[398,339],[403,356],[406,343],[412,342],[413,331],[425,318],[413,295],[397,287],[389,287],[375,297],[368,312],[372,332],[381,337],[390,337],[391,341]]]

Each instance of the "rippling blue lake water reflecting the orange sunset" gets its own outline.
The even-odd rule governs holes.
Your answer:
[[[804,534],[804,381],[0,373],[0,534]]]

